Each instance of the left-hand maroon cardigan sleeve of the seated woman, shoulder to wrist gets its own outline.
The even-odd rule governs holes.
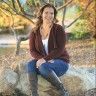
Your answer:
[[[34,59],[38,60],[40,58],[43,58],[43,56],[35,48],[35,33],[34,32],[31,32],[29,36],[29,49],[30,49],[31,56]]]

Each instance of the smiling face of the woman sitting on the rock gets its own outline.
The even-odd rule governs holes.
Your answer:
[[[43,22],[52,23],[54,20],[54,9],[51,7],[46,7],[42,14]]]

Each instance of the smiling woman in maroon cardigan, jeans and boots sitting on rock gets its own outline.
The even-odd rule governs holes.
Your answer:
[[[32,96],[39,96],[38,74],[56,87],[60,96],[68,96],[59,77],[68,70],[69,55],[65,48],[65,32],[61,25],[55,23],[56,15],[53,5],[43,6],[36,28],[29,37],[30,54],[34,58],[28,63]]]

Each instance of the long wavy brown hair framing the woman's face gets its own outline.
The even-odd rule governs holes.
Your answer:
[[[54,9],[54,22],[57,22],[57,21],[58,21],[58,20],[56,19],[56,15],[57,15],[57,10],[56,10],[56,8],[55,8],[52,4],[47,3],[46,5],[44,5],[44,6],[40,9],[40,11],[39,11],[39,13],[38,13],[37,22],[36,22],[36,29],[38,29],[38,28],[42,25],[42,23],[43,23],[42,14],[43,14],[43,11],[44,11],[44,9],[45,9],[46,7],[49,7],[49,8],[51,7],[51,8]]]

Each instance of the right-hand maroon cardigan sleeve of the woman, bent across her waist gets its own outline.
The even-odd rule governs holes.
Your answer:
[[[64,51],[65,43],[66,43],[66,35],[61,25],[57,26],[56,28],[55,39],[56,39],[57,47],[54,48],[47,56],[44,57],[45,60],[59,58]]]

